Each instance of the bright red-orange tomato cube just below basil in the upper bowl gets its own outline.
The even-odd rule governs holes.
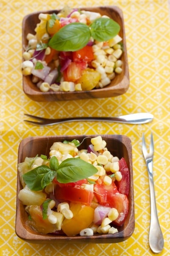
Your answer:
[[[73,61],[79,62],[79,61],[92,61],[94,60],[94,53],[92,46],[86,45],[82,49],[73,52]]]

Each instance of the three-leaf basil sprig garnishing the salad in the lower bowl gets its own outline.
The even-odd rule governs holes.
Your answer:
[[[58,163],[57,157],[49,160],[49,167],[38,166],[23,175],[23,180],[29,189],[39,191],[45,188],[54,177],[59,183],[76,182],[94,175],[97,172],[95,166],[80,158],[68,158]]]

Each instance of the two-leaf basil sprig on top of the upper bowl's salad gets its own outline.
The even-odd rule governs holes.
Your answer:
[[[75,22],[63,26],[49,41],[49,46],[58,51],[77,51],[88,44],[91,36],[100,42],[108,41],[119,33],[120,26],[110,18],[99,18],[88,26]]]

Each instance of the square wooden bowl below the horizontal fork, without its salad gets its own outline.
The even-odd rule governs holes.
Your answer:
[[[43,136],[43,137],[28,137],[21,141],[18,151],[18,163],[22,163],[25,157],[35,157],[37,154],[44,154],[49,156],[50,147],[54,142],[63,140],[77,139],[80,142],[87,136]],[[89,135],[79,147],[79,149],[87,148],[90,144],[90,138],[95,137]],[[18,199],[18,193],[22,189],[20,183],[19,173],[17,175],[17,209],[16,209],[16,223],[15,232],[24,241],[30,243],[51,243],[51,242],[64,242],[64,243],[118,243],[128,239],[134,230],[135,218],[134,218],[134,198],[133,198],[133,170],[132,170],[132,148],[131,141],[124,135],[102,135],[103,140],[107,143],[107,148],[111,151],[113,156],[119,158],[124,157],[127,166],[130,171],[130,192],[128,195],[129,200],[129,212],[127,219],[122,227],[118,227],[118,233],[111,234],[95,234],[94,236],[61,236],[61,235],[41,235],[32,230],[27,224],[28,214],[25,211],[25,207]]]

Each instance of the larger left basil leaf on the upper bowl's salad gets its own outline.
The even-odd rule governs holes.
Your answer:
[[[86,46],[91,32],[86,24],[75,22],[63,26],[49,41],[49,46],[58,51],[77,51]]]

